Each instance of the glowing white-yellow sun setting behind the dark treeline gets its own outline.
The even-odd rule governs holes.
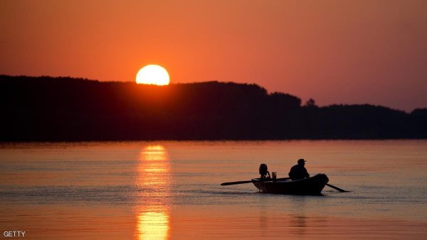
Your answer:
[[[159,65],[147,65],[137,73],[138,84],[168,85],[169,74],[164,67]]]

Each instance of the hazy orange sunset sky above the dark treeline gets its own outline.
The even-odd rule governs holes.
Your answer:
[[[317,105],[427,107],[427,1],[0,1],[0,74],[255,83]]]

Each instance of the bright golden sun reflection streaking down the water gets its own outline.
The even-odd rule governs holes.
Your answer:
[[[153,145],[139,154],[136,185],[144,204],[135,209],[137,239],[169,239],[170,210],[164,197],[170,195],[171,165],[163,146]]]

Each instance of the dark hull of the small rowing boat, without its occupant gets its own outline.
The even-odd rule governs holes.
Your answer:
[[[259,178],[253,178],[259,181]],[[266,180],[253,182],[253,185],[263,193],[290,195],[320,195],[329,179],[325,174],[317,174],[311,178],[300,180]]]

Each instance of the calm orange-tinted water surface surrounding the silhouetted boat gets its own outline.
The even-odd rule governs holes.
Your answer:
[[[352,192],[219,185],[298,158]],[[26,239],[427,239],[427,141],[3,144],[0,169],[1,232]]]

